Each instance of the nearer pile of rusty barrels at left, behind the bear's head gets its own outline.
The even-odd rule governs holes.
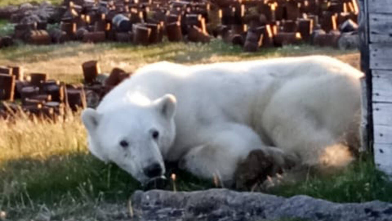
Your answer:
[[[66,112],[96,107],[103,96],[131,74],[114,68],[109,76],[100,73],[97,61],[82,64],[84,84],[66,84],[48,79],[44,73],[24,75],[20,66],[0,67],[0,118],[18,111],[29,116],[58,120]],[[98,81],[99,76],[105,76]]]

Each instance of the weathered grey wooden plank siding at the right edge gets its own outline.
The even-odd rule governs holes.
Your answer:
[[[374,161],[392,175],[392,1],[368,0],[366,6]]]

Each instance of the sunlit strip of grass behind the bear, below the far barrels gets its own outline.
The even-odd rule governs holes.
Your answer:
[[[358,66],[356,51],[341,52],[332,48],[321,49],[302,45],[245,53],[238,46],[218,40],[210,44],[163,42],[147,47],[130,46],[125,43],[80,42],[49,46],[14,46],[1,51],[0,64],[23,64],[26,73],[46,72],[51,78],[76,83],[82,81],[81,64],[93,59],[99,61],[102,72],[108,73],[114,67],[132,72],[144,64],[162,60],[192,64],[309,54],[345,56],[349,58],[347,62]]]

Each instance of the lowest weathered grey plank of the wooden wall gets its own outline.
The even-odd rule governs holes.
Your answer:
[[[392,144],[374,144],[374,163],[376,167],[392,175]]]

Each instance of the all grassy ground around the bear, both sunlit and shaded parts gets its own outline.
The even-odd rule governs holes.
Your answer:
[[[155,61],[211,63],[308,54],[326,54],[358,67],[356,51],[288,46],[243,53],[235,46],[213,41],[211,44],[162,43],[155,46],[129,44],[80,44],[20,46],[0,51],[0,65],[22,65],[27,73],[44,72],[67,82],[82,80],[81,64],[96,59],[104,72],[113,67],[127,71]],[[86,131],[78,114],[57,123],[29,121],[21,114],[16,122],[0,120],[0,212],[6,220],[30,220],[50,216],[52,220],[100,220],[100,210],[124,206],[136,189],[142,188],[113,164],[103,164],[86,147]],[[214,187],[211,180],[200,180],[183,171],[177,174],[178,190]],[[170,184],[166,189],[172,190]],[[309,176],[305,182],[268,190],[283,196],[307,194],[336,202],[364,202],[374,199],[392,202],[392,185],[385,181],[364,155],[339,174]],[[114,209],[113,209],[114,207]],[[97,215],[98,214],[98,215]],[[1,217],[0,217],[1,219]]]

